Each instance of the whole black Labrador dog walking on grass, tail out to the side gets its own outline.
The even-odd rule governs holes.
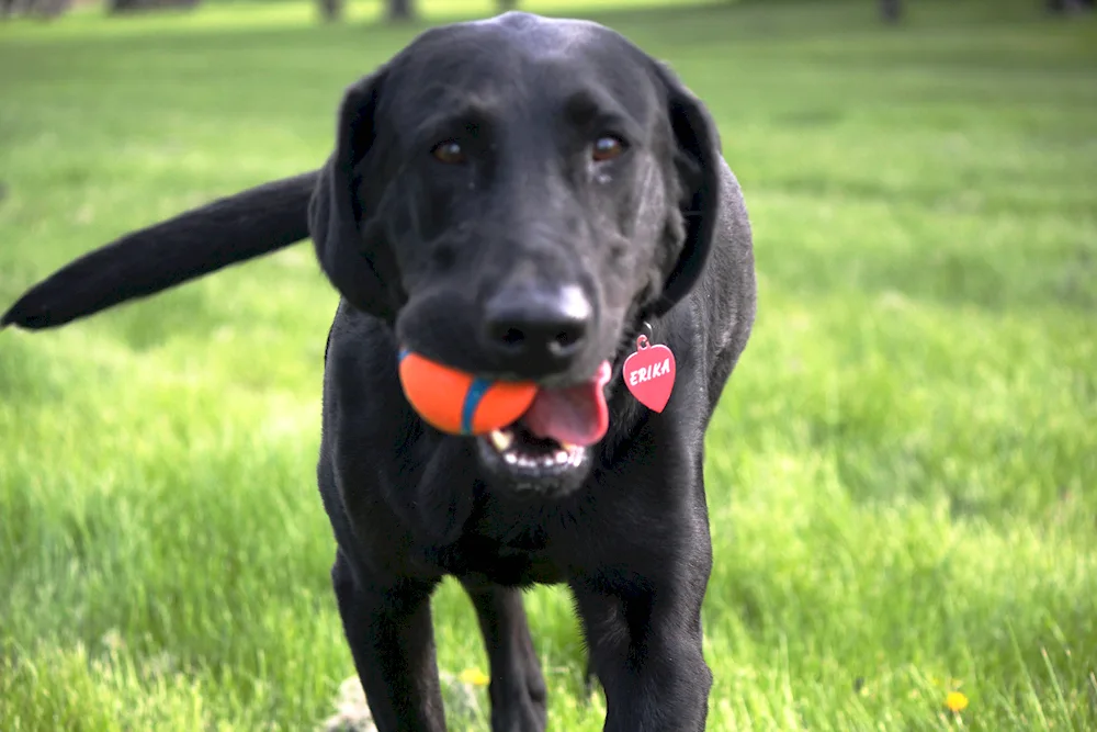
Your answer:
[[[606,27],[507,13],[420,35],[349,88],[337,137],[319,171],[129,234],[3,322],[60,325],[310,235],[342,296],[317,473],[377,728],[444,729],[430,597],[451,574],[479,617],[494,730],[544,729],[521,588],[562,582],[606,729],[703,730],[703,438],[756,296],[704,108]],[[645,324],[677,357],[661,413],[621,379]],[[541,391],[489,437],[444,435],[402,392],[402,347]]]

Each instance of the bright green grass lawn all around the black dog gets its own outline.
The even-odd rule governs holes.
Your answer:
[[[755,226],[759,318],[708,440],[710,729],[1097,729],[1097,24],[1038,4],[597,11],[708,101]],[[374,7],[0,26],[0,301],[321,162],[342,88],[414,33]],[[332,710],[335,304],[299,246],[0,334],[0,729]],[[551,729],[601,729],[566,594],[528,603]],[[484,668],[452,583],[434,608],[441,666]]]

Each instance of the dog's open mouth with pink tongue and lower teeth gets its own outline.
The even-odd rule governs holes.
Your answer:
[[[583,466],[609,429],[611,375],[610,362],[602,361],[590,381],[542,388],[525,414],[477,439],[485,462],[520,481],[561,477]]]

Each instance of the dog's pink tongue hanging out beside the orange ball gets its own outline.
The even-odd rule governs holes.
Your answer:
[[[591,381],[567,388],[542,388],[522,417],[525,427],[540,438],[557,442],[593,444],[602,439],[610,425],[610,409],[602,387],[609,383],[612,367],[602,361]]]

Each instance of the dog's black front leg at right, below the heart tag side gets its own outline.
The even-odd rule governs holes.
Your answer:
[[[679,558],[677,575],[573,583],[606,691],[606,732],[703,732],[712,687],[701,630],[710,547],[705,531],[703,545]]]

